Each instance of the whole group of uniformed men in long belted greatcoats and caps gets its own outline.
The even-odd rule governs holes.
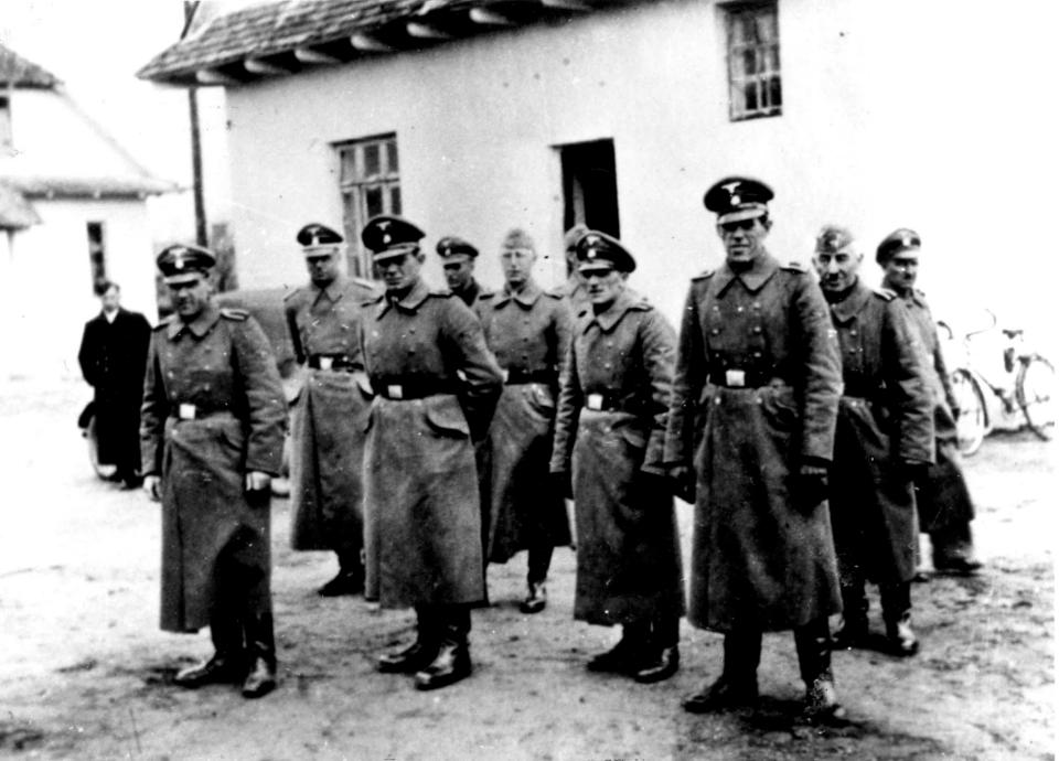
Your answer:
[[[819,277],[764,246],[772,191],[726,178],[705,195],[726,251],[694,278],[680,336],[627,288],[620,240],[567,233],[569,280],[543,290],[534,242],[501,245],[505,285],[473,278],[478,250],[437,245],[449,290],[420,277],[425,233],[378,216],[361,233],[383,290],[340,271],[342,237],[298,234],[310,282],[286,299],[306,378],[292,410],[292,543],[330,549],[325,596],[411,607],[416,640],[378,668],[431,689],[471,673],[471,609],[485,566],[528,550],[525,613],[543,610],[553,547],[577,536],[574,617],[621,624],[595,672],[640,683],[678,668],[680,619],[725,634],[720,676],[692,712],[752,705],[761,636],[793,630],[811,719],[843,716],[836,642],[868,642],[865,582],[886,642],[911,628],[918,523],[934,566],[972,572],[972,507],[954,458],[953,405],[933,322],[914,290],[920,240],[878,246],[888,288],[827,226]],[[193,687],[276,685],[268,480],[285,398],[261,330],[210,298],[213,256],[158,260],[175,314],[153,333],[142,409],[146,489],[163,504],[162,628],[208,625]],[[688,607],[672,495],[695,505]],[[918,512],[917,512],[918,507]]]

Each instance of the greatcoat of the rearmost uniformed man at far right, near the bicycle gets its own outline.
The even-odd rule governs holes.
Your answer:
[[[935,464],[929,468],[927,476],[917,483],[920,528],[931,533],[954,533],[956,537],[962,537],[953,539],[956,544],[970,545],[971,529],[967,524],[974,518],[974,503],[971,501],[971,492],[960,462],[956,421],[952,414],[956,401],[941,342],[938,340],[938,324],[930,313],[922,291],[912,290],[902,297],[902,300],[933,365],[931,388],[934,403]],[[935,546],[935,554],[938,549]],[[952,548],[953,554],[969,551],[969,546]]]

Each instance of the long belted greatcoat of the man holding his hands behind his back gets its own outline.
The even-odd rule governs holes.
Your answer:
[[[376,397],[364,454],[366,594],[384,608],[484,598],[472,432],[503,383],[474,314],[418,280],[361,329]]]

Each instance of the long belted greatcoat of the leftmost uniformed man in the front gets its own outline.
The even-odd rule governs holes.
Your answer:
[[[225,589],[249,587],[270,612],[268,495],[247,497],[249,471],[276,474],[287,406],[265,333],[245,312],[208,304],[151,335],[140,441],[143,470],[162,479],[165,631],[196,631]],[[222,555],[240,579],[220,578]]]

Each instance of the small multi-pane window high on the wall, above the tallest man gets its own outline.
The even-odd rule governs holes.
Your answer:
[[[729,117],[732,121],[783,112],[775,3],[725,8],[728,26]]]

